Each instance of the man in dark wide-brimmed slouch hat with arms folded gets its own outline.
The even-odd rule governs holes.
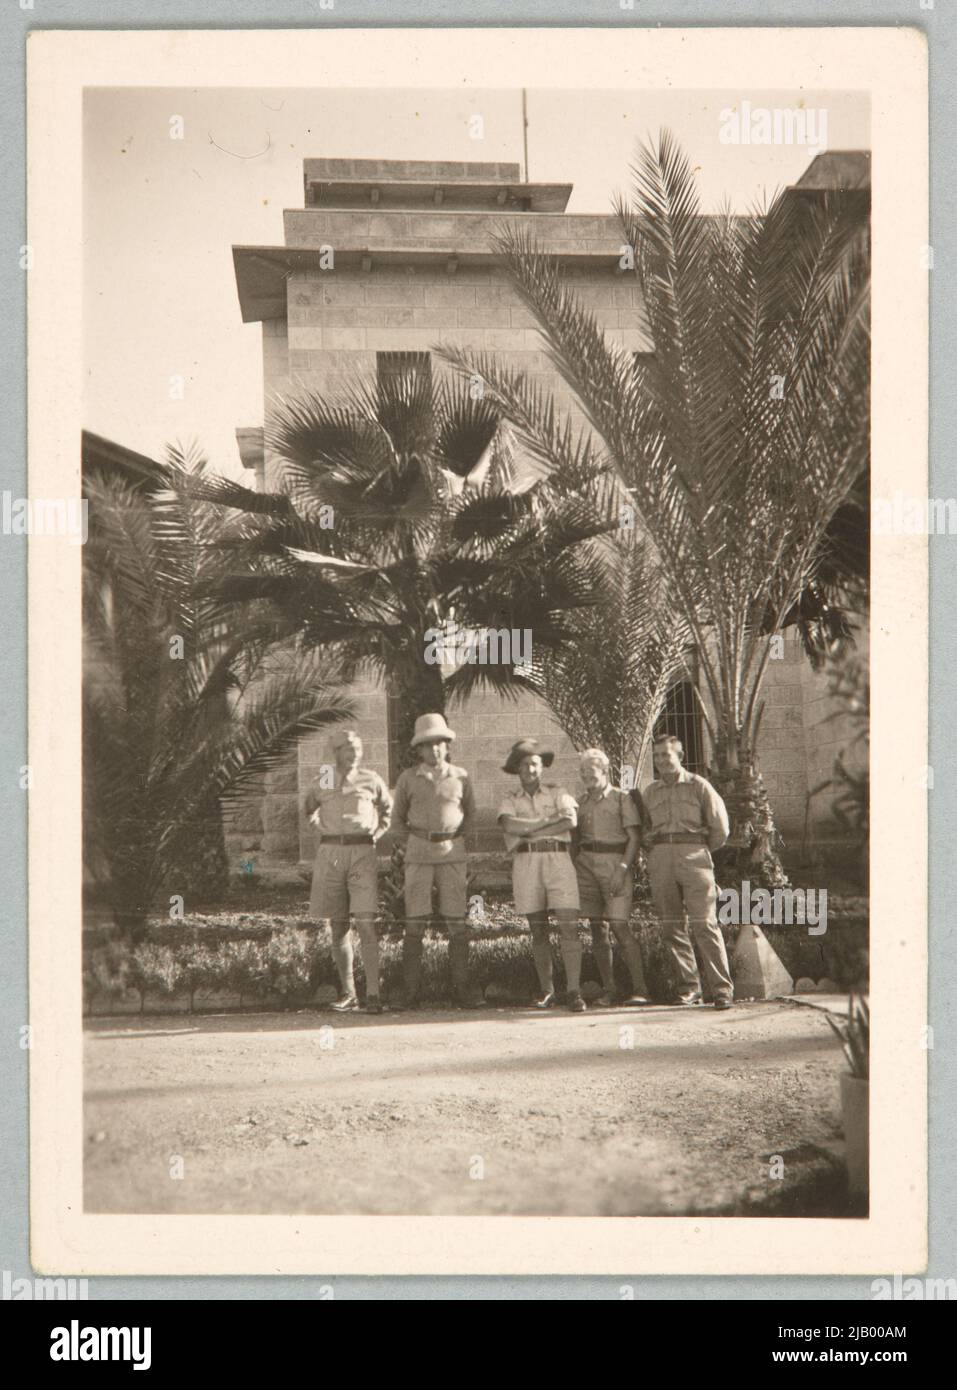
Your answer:
[[[573,1013],[584,1012],[581,983],[581,940],[579,937],[579,881],[572,863],[572,831],[577,824],[574,796],[541,774],[555,760],[540,751],[534,738],[520,738],[502,771],[519,778],[519,790],[498,808],[498,823],[512,856],[512,891],[516,910],[529,919],[531,955],[538,976],[537,1008],[555,1004],[552,948],[548,941],[548,913],[554,912],[562,937],[562,960],[568,984],[566,1004]]]

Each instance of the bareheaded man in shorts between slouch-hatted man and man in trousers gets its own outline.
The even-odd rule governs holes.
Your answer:
[[[611,763],[601,748],[586,748],[580,766],[586,790],[579,796],[574,869],[581,916],[591,922],[591,949],[601,976],[602,992],[595,1002],[609,1005],[616,998],[613,931],[632,976],[632,994],[623,1002],[647,1004],[641,947],[629,926],[641,824],[638,808],[626,791],[612,787]]]

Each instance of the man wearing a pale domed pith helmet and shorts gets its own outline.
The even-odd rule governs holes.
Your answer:
[[[419,763],[395,785],[392,830],[405,842],[403,1004],[413,1008],[421,987],[421,954],[433,915],[433,890],[449,934],[449,969],[455,1002],[476,1008],[481,997],[469,981],[465,837],[474,824],[476,798],[465,767],[449,762],[455,731],[444,714],[416,720],[412,748]]]

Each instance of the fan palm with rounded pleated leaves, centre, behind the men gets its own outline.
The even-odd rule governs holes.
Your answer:
[[[434,634],[530,630],[533,651],[566,642],[569,614],[600,596],[594,541],[612,525],[606,466],[552,417],[547,468],[520,431],[458,377],[403,371],[342,400],[281,402],[267,445],[280,489],[216,480],[204,496],[242,513],[220,592],[274,605],[344,680],[376,677],[398,696],[398,744],[415,719],[474,685],[515,694],[512,663],[455,670],[428,659]]]

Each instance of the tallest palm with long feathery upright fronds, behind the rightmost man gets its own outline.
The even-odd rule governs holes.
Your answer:
[[[804,621],[846,637],[833,530],[868,460],[868,228],[858,195],[782,195],[762,213],[701,214],[668,132],[641,149],[633,249],[654,354],[611,342],[529,234],[498,247],[654,545],[687,623],[736,867],[783,883],[757,767],[773,638]],[[494,359],[447,353],[515,395]],[[858,566],[860,567],[860,566]]]

